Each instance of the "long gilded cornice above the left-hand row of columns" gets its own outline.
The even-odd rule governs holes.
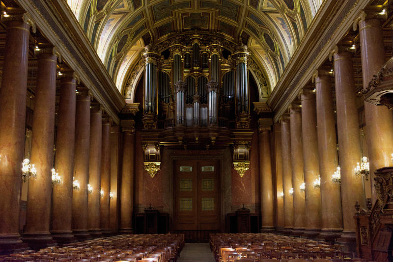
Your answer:
[[[115,123],[125,102],[65,0],[17,0]]]

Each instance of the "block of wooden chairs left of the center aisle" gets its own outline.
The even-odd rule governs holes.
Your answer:
[[[176,262],[182,234],[119,235],[0,256],[0,262]]]

